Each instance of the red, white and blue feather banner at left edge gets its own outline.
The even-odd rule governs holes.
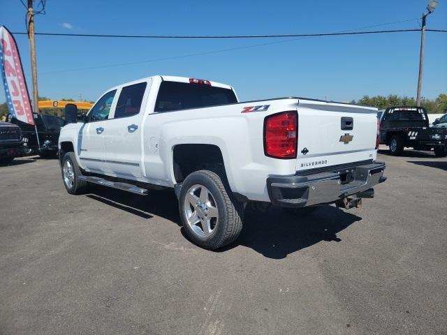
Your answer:
[[[10,114],[34,125],[20,54],[13,35],[5,27],[0,27],[0,69]]]

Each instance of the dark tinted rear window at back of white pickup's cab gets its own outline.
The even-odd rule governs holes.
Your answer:
[[[163,81],[156,98],[155,112],[189,110],[237,103],[232,89],[207,84]]]

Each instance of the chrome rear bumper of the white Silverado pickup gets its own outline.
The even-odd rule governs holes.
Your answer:
[[[330,172],[307,175],[270,176],[267,188],[270,201],[279,207],[305,207],[330,204],[357,196],[372,198],[371,188],[386,180],[385,163],[349,165]]]

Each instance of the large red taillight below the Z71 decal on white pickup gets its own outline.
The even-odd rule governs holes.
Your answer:
[[[274,158],[295,158],[297,144],[297,113],[282,112],[264,121],[264,151]]]

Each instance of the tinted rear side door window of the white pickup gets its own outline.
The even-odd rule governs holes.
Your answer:
[[[123,87],[121,94],[119,94],[114,118],[131,117],[140,113],[142,97],[145,95],[146,87],[147,82]]]

